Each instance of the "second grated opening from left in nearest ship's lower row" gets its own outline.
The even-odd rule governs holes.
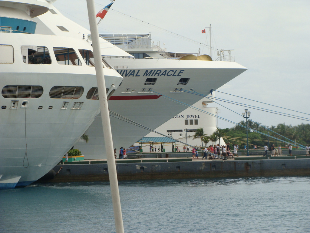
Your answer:
[[[54,86],[50,90],[52,99],[78,99],[84,92],[83,87],[75,86]]]

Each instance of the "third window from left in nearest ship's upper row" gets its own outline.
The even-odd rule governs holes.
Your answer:
[[[73,48],[53,48],[56,60],[60,65],[82,66]]]

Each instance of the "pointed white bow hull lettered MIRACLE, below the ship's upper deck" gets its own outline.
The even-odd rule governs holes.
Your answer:
[[[124,69],[116,68],[121,74],[124,73],[124,80],[109,100],[110,111],[116,112],[150,129],[156,129],[188,108],[187,105],[184,106],[167,100],[164,96],[176,99],[190,106],[201,99],[200,95],[174,92],[175,88],[184,88],[184,90],[193,89],[198,93],[208,95],[211,89],[218,89],[246,70],[244,66],[235,62],[117,58],[107,59],[107,61],[112,66],[128,67],[126,69],[128,71],[127,77],[126,72],[123,71]],[[146,70],[150,71],[154,69],[162,70],[162,72],[164,70],[178,70],[175,74],[180,70],[184,71],[182,71],[182,76],[154,76],[157,78],[155,85],[145,86],[144,82],[149,76],[146,77],[143,74]],[[140,70],[139,74],[141,75],[128,76],[133,70],[135,70],[135,74]],[[187,85],[177,85],[180,78],[190,78],[190,80]],[[127,88],[131,88],[131,91],[135,89],[135,92],[125,93]],[[146,99],[147,96],[154,97],[154,93],[139,93],[143,88],[153,88],[153,91],[163,96],[157,99]],[[149,130],[144,130],[114,117],[110,119],[114,148],[128,148],[150,132]],[[76,144],[77,148],[81,150],[86,158],[106,158],[104,138],[101,132],[101,119],[98,116],[86,131],[86,135],[89,135],[89,142],[78,142]]]

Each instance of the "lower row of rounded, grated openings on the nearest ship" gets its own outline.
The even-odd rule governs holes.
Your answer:
[[[106,88],[108,94],[109,89]],[[113,89],[108,95],[108,99],[114,93]],[[80,86],[54,86],[50,90],[52,99],[78,99],[84,93],[84,88]],[[31,85],[7,85],[2,88],[4,98],[40,98],[43,94],[42,86]],[[86,99],[99,99],[98,88],[92,87],[86,94]]]

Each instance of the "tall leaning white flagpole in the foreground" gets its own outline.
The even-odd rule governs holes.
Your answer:
[[[114,159],[114,150],[112,142],[112,132],[109,117],[108,99],[105,91],[103,63],[100,53],[99,33],[96,22],[95,3],[94,0],[86,0],[89,17],[89,25],[91,29],[91,42],[93,46],[95,70],[98,85],[98,94],[100,99],[101,119],[104,133],[104,144],[107,154],[108,173],[111,187],[112,203],[114,210],[114,220],[116,233],[124,233],[121,201],[119,197],[117,173]]]

